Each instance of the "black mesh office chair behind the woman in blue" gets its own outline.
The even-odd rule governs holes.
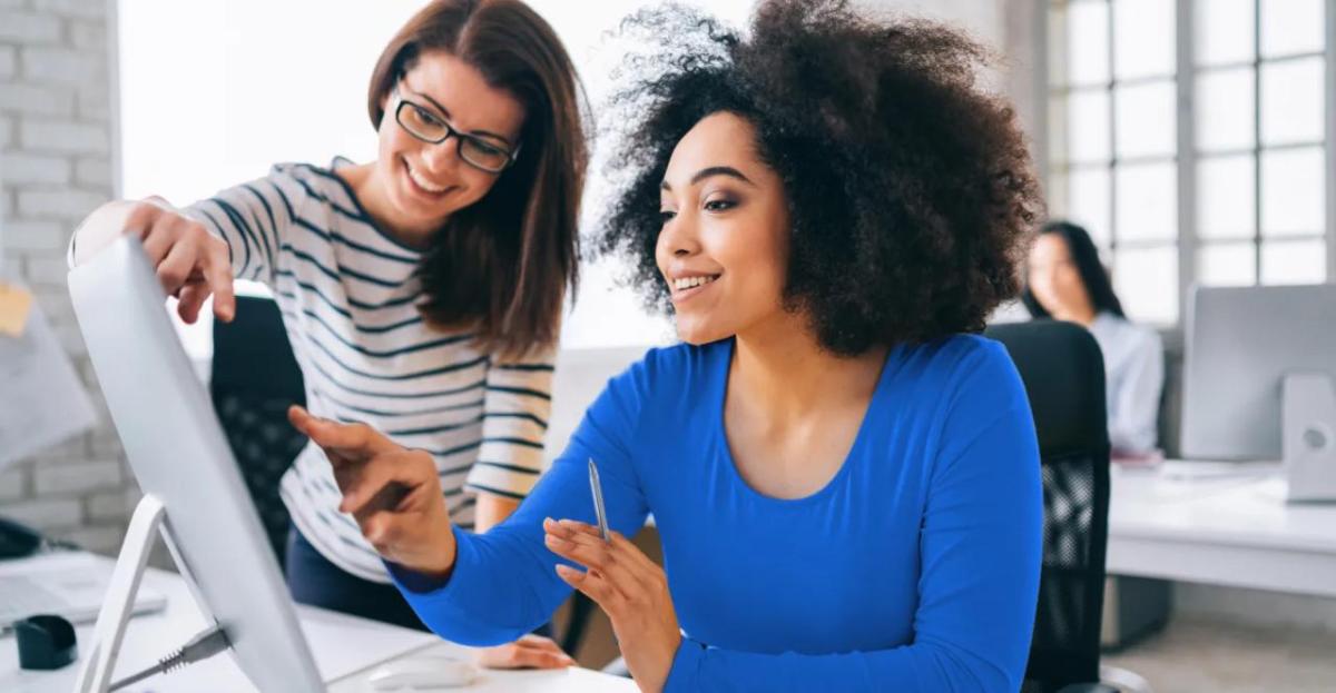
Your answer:
[[[1043,467],[1043,569],[1022,690],[1112,692],[1100,681],[1109,541],[1104,355],[1090,332],[1055,320],[998,324],[1025,382]]]

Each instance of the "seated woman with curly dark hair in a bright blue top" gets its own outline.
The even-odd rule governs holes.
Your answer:
[[[632,63],[656,73],[621,99],[640,118],[601,246],[684,343],[613,378],[481,537],[425,455],[294,423],[449,640],[513,638],[574,588],[643,690],[1018,689],[1038,450],[1007,354],[971,332],[1017,294],[1039,200],[983,51],[838,0],[764,1],[745,39],[680,8],[632,25],[677,51]],[[648,514],[663,570],[623,535]]]

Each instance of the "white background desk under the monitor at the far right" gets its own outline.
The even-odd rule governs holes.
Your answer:
[[[1336,597],[1336,503],[1287,503],[1279,473],[1110,475],[1110,574]]]

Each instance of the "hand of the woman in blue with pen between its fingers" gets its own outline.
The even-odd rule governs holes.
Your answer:
[[[640,690],[663,690],[681,645],[677,612],[663,569],[616,531],[605,542],[597,527],[573,519],[548,518],[542,529],[552,553],[588,569],[580,571],[558,563],[557,575],[608,614],[627,669]]]

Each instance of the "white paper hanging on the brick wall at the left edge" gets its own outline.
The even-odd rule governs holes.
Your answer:
[[[0,467],[95,422],[88,393],[35,303],[21,336],[0,335]]]

